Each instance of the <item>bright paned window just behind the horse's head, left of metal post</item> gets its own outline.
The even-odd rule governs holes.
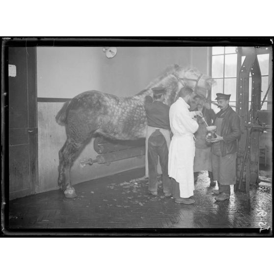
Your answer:
[[[211,90],[212,101],[216,101],[216,93],[231,94],[229,104],[236,106],[236,47],[212,47],[212,78],[216,81]],[[212,109],[215,112],[219,111],[214,104]]]

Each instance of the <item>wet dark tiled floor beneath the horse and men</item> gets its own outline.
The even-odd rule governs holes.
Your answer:
[[[9,228],[259,228],[272,224],[272,183],[252,186],[250,199],[233,192],[217,202],[207,172],[199,175],[192,205],[147,192],[144,169],[75,185],[78,197],[51,191],[10,201]]]

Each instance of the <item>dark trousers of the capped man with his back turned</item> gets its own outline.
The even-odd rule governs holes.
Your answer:
[[[171,193],[171,180],[168,177],[168,148],[164,135],[158,130],[148,138],[147,159],[149,191],[157,191],[157,165],[158,156],[163,172],[164,193]]]

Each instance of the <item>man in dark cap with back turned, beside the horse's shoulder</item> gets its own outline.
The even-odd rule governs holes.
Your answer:
[[[152,195],[157,195],[157,165],[158,156],[163,173],[164,196],[171,196],[171,180],[168,177],[168,146],[170,143],[169,106],[163,103],[165,89],[155,87],[153,99],[145,97],[147,117],[147,160],[148,160],[148,189]]]

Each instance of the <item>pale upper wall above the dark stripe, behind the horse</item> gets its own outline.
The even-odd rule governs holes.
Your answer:
[[[190,65],[189,47],[117,47],[117,55],[111,59],[102,47],[40,47],[37,95],[72,98],[96,89],[129,96],[175,63]]]

